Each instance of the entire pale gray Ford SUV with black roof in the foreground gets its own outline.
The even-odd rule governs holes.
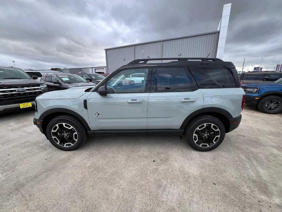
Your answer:
[[[170,62],[147,63],[149,60]],[[126,83],[124,79],[132,75],[138,80]],[[244,96],[231,62],[138,59],[95,87],[40,95],[34,124],[62,150],[79,148],[88,134],[184,136],[192,148],[209,151],[240,124]]]

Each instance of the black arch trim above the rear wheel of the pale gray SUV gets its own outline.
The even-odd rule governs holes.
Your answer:
[[[185,129],[188,122],[191,119],[193,119],[195,116],[200,115],[200,114],[204,114],[204,113],[208,113],[208,112],[220,113],[220,114],[224,115],[227,119],[233,119],[233,116],[230,114],[230,112],[228,112],[227,110],[225,110],[223,108],[216,108],[216,107],[201,108],[201,109],[198,109],[198,110],[192,112],[191,114],[189,114],[184,119],[184,121],[182,122],[180,129]]]

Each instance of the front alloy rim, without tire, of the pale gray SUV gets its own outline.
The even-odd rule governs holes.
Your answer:
[[[53,140],[63,147],[73,146],[78,139],[77,131],[66,123],[56,124],[51,131]]]

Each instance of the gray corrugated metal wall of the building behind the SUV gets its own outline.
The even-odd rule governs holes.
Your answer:
[[[216,57],[219,31],[105,49],[107,73],[135,59]],[[180,56],[178,54],[181,54]],[[209,54],[210,53],[210,54]],[[125,60],[123,60],[125,59]],[[161,62],[161,61],[153,61]]]

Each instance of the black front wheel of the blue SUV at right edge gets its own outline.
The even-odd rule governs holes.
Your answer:
[[[276,106],[271,107],[270,104],[271,102],[276,102],[277,104],[273,104],[273,105],[278,105],[278,108]],[[259,100],[258,108],[263,113],[268,113],[268,114],[280,113],[282,111],[282,98],[274,95],[262,97]]]

